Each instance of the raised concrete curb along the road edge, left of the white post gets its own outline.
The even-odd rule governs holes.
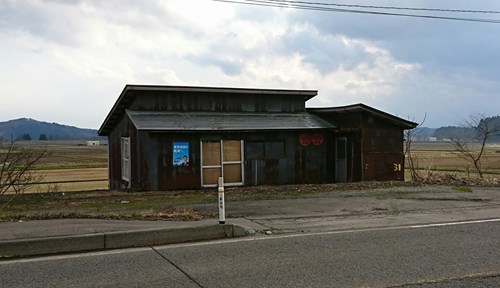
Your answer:
[[[224,224],[8,240],[0,241],[0,259],[177,244],[243,237],[253,234],[255,234],[255,231],[251,228],[233,224]]]

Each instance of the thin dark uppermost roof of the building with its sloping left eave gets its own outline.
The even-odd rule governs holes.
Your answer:
[[[304,102],[318,94],[317,90],[286,90],[286,89],[255,89],[255,88],[230,88],[230,87],[199,87],[199,86],[167,86],[167,85],[125,85],[113,108],[99,128],[98,134],[108,135],[113,126],[123,117],[125,109],[129,108],[138,92],[147,91],[177,91],[198,93],[236,93],[236,94],[264,94],[264,95],[290,95],[303,97]]]

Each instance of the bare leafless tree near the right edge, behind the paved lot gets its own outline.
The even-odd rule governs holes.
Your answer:
[[[464,120],[464,127],[474,129],[477,134],[476,139],[470,139],[467,137],[452,137],[452,148],[457,153],[457,155],[469,162],[471,162],[479,174],[480,178],[483,178],[482,169],[482,156],[484,155],[484,149],[486,147],[486,142],[491,136],[500,133],[500,124],[495,122],[495,118],[486,117],[483,114],[471,115],[469,119]],[[480,148],[473,149],[472,142],[477,141],[480,144]]]

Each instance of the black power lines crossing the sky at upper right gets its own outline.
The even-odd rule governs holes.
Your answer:
[[[371,15],[384,15],[384,16],[401,16],[401,17],[413,17],[413,18],[426,18],[426,19],[455,20],[455,21],[468,21],[468,22],[482,22],[482,23],[500,24],[500,20],[497,20],[497,19],[447,17],[447,16],[435,16],[435,15],[419,15],[419,14],[365,11],[365,10],[355,10],[355,9],[329,8],[329,7],[321,7],[321,6],[315,6],[315,5],[310,5],[310,4],[295,4],[298,2],[293,2],[293,1],[273,1],[273,0],[213,0],[213,1],[232,3],[232,4],[264,6],[264,7],[291,8],[291,9],[300,9],[300,10],[358,13],[358,14],[371,14]],[[325,5],[325,4],[323,3],[323,5]],[[381,7],[382,6],[379,6],[379,9],[389,9],[389,8],[381,8]],[[417,8],[415,8],[415,9],[417,9]],[[424,8],[422,8],[422,9],[424,9]],[[429,9],[429,8],[427,8],[427,9]],[[479,11],[479,10],[474,10],[474,11]],[[448,12],[451,12],[451,11],[448,11]],[[494,11],[492,11],[491,13],[493,13],[493,12]]]

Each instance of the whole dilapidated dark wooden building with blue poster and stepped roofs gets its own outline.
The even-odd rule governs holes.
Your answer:
[[[404,180],[417,124],[363,104],[306,108],[317,93],[126,85],[99,129],[109,188]]]

